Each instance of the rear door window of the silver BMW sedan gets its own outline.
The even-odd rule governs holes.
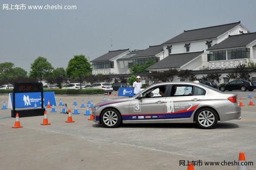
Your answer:
[[[192,95],[193,86],[189,85],[174,85],[170,91],[170,96],[187,96]]]

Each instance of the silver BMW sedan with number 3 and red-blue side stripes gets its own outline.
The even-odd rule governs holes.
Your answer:
[[[132,97],[98,103],[94,122],[107,128],[121,123],[194,123],[202,129],[218,122],[241,119],[237,94],[227,94],[195,82],[158,83]]]

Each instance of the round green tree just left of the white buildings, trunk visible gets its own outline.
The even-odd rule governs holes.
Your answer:
[[[89,76],[92,74],[91,66],[92,65],[87,61],[84,55],[74,56],[74,58],[69,61],[66,69],[67,76],[72,79],[79,78],[81,84],[84,76]]]

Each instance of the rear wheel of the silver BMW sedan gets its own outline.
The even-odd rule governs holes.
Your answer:
[[[199,128],[212,129],[217,125],[218,115],[211,108],[202,108],[196,112],[195,121]]]

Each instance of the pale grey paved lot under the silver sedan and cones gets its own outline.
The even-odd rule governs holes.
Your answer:
[[[56,103],[67,102],[78,112],[75,123],[65,123],[68,114],[47,109],[51,125],[41,126],[44,116],[21,117],[21,126],[13,129],[15,118],[11,109],[0,110],[0,145],[2,169],[187,169],[180,160],[238,161],[244,152],[248,169],[256,169],[256,106],[248,106],[249,92],[235,91],[242,98],[242,119],[218,123],[215,129],[198,129],[196,124],[124,124],[108,129],[87,120],[83,115],[89,95],[56,95]],[[116,98],[104,95],[106,100]],[[251,92],[256,103],[256,91]],[[103,95],[91,95],[93,103]],[[8,95],[0,95],[0,107]],[[195,169],[237,169],[237,166],[198,165]]]

